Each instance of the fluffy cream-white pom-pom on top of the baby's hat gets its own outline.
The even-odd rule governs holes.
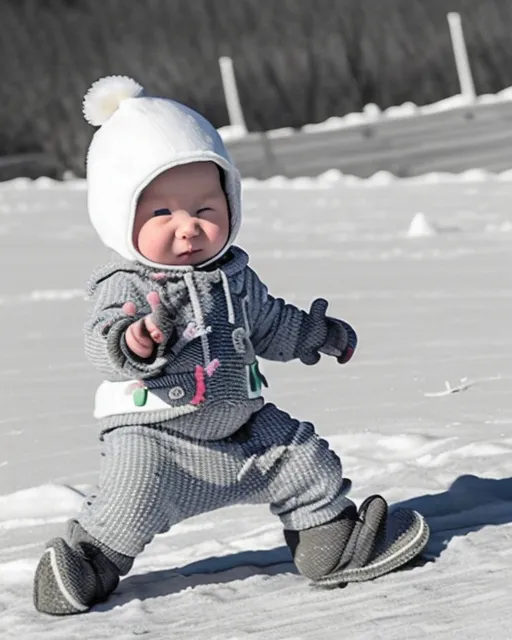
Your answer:
[[[128,76],[106,76],[94,82],[84,96],[83,113],[89,124],[100,127],[123,100],[137,98],[144,88]]]

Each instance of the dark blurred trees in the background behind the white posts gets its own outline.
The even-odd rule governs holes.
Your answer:
[[[2,156],[43,153],[83,174],[81,100],[133,76],[228,124],[218,58],[231,56],[249,130],[459,92],[446,14],[458,11],[477,92],[512,85],[510,0],[2,0]],[[48,171],[47,171],[48,173]]]

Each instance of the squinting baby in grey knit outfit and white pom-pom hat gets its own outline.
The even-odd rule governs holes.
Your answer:
[[[92,276],[85,349],[104,375],[94,415],[104,444],[98,491],[34,582],[45,613],[108,598],[158,533],[234,504],[268,504],[299,572],[319,586],[376,578],[421,552],[418,513],[359,507],[314,427],[266,403],[258,357],[340,364],[352,327],[272,297],[235,246],[240,175],[215,128],[126,77],[97,81],[84,115],[88,209],[113,261]]]

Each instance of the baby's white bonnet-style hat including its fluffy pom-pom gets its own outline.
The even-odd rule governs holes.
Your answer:
[[[137,200],[162,171],[211,161],[225,173],[230,235],[222,251],[204,264],[229,249],[240,229],[240,174],[208,120],[174,100],[145,96],[141,85],[126,76],[96,81],[84,97],[83,112],[90,124],[100,127],[87,153],[88,208],[107,247],[128,260],[168,267],[148,260],[133,245]]]

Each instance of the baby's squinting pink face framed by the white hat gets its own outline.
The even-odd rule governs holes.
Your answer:
[[[142,191],[133,244],[144,257],[194,265],[217,255],[229,237],[229,209],[213,162],[173,167]]]

